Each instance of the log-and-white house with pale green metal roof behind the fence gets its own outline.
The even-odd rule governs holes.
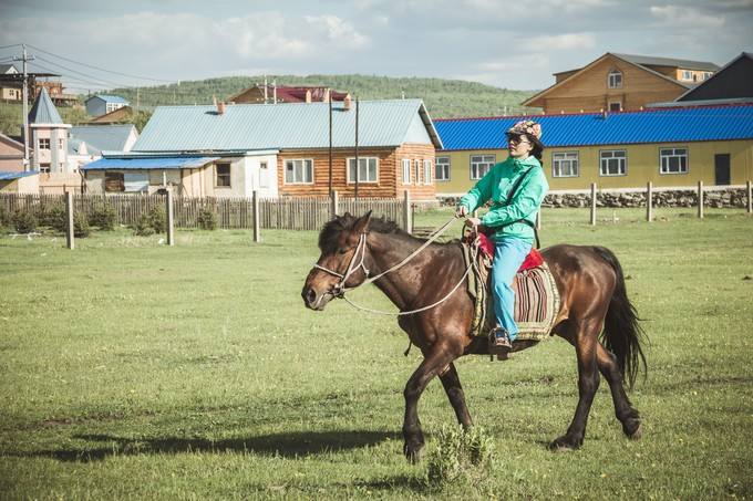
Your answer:
[[[159,106],[131,153],[82,170],[91,191],[433,200],[441,147],[420,100],[332,103],[331,128],[329,103]]]

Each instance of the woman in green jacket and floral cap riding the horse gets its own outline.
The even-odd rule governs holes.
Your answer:
[[[518,334],[513,317],[515,291],[513,279],[534,244],[536,215],[549,185],[541,169],[541,126],[534,121],[523,121],[507,133],[505,161],[496,164],[461,198],[457,217],[465,217],[487,200],[492,208],[481,219],[467,218],[473,228],[483,225],[494,241],[494,314],[497,326],[489,335],[489,352],[506,353]],[[514,192],[513,192],[514,191]]]

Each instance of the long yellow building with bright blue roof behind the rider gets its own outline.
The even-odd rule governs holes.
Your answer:
[[[437,119],[436,194],[466,192],[507,158],[505,131],[541,124],[551,190],[743,185],[753,179],[753,105],[612,114]]]

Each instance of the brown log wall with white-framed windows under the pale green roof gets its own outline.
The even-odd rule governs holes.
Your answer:
[[[355,194],[355,184],[348,182],[345,163],[347,158],[354,158],[352,148],[336,149],[332,152],[332,188],[341,197],[352,197]],[[408,158],[414,163],[416,159],[430,159],[434,163],[434,146],[423,144],[404,144],[398,148],[360,148],[359,157],[378,158],[378,181],[359,182],[359,196],[376,198],[402,197],[404,190],[409,190],[414,200],[433,199],[435,194],[434,181],[425,184],[423,178],[415,179],[415,167],[411,175],[411,182],[402,180],[402,159]],[[313,160],[313,182],[291,185],[285,181],[285,163],[288,159]],[[280,196],[327,196],[329,194],[329,153],[327,149],[316,150],[283,150],[277,157],[277,179]]]

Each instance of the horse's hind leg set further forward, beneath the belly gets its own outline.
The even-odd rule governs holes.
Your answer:
[[[553,450],[577,449],[584,442],[588,414],[591,410],[596,390],[599,388],[600,376],[596,364],[596,351],[601,324],[601,321],[582,320],[575,325],[575,332],[564,336],[575,345],[578,356],[578,406],[567,432],[549,445]]]

